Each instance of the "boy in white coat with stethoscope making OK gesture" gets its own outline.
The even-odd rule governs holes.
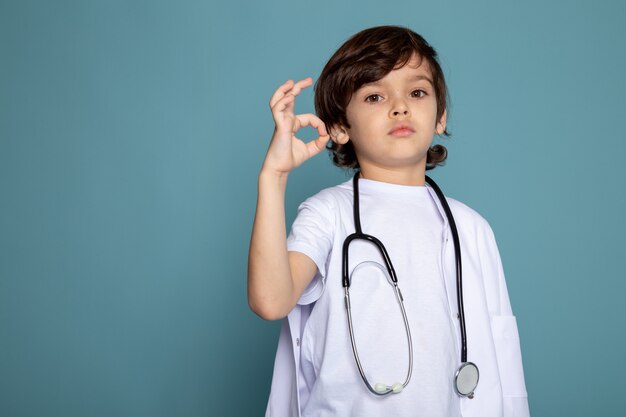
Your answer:
[[[259,175],[248,270],[252,310],[268,320],[287,317],[267,416],[529,414],[517,325],[493,232],[476,211],[446,198],[463,253],[459,303],[455,239],[426,184],[425,171],[447,155],[443,146],[431,147],[433,136],[449,135],[447,89],[436,58],[409,29],[366,29],[322,71],[315,94],[319,117],[293,113],[295,96],[311,78],[287,81],[270,100],[276,128]],[[299,140],[295,133],[304,126],[316,128],[319,137]],[[334,163],[357,176],[302,203],[285,240],[287,176],[329,139]],[[344,241],[361,226],[385,243],[393,268],[381,266],[383,251],[368,241],[349,246],[351,262],[344,265]],[[404,304],[389,297],[392,269]],[[348,278],[351,299],[344,289]],[[346,315],[349,304],[352,316]],[[468,359],[480,369],[469,396],[454,385],[465,348],[464,316]],[[369,383],[405,375],[393,390]]]

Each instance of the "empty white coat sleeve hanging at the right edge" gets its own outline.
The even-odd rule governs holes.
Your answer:
[[[502,384],[504,416],[528,417],[530,411],[517,320],[511,309],[502,260],[493,230],[485,219],[483,222],[482,232],[479,234],[479,239],[482,240],[479,247],[483,250],[479,253]]]

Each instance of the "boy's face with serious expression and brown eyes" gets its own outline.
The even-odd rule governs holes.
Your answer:
[[[417,55],[376,83],[359,88],[348,103],[345,129],[359,165],[377,168],[426,167],[435,129],[443,133],[445,113],[437,123],[437,99],[428,60]],[[419,65],[419,66],[418,66]],[[430,81],[429,81],[430,80]],[[408,129],[393,131],[400,124]]]

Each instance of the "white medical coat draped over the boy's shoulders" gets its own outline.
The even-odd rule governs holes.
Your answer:
[[[441,257],[450,314],[458,324],[454,242],[448,219],[434,189],[426,183],[444,219]],[[517,322],[495,236],[489,223],[467,205],[446,197],[461,244],[463,302],[467,331],[467,359],[480,372],[473,399],[462,397],[463,417],[527,417]],[[300,340],[312,305],[296,305],[283,319],[266,417],[300,417]],[[456,326],[460,351],[460,329]],[[459,355],[460,362],[460,355]],[[338,387],[337,389],[341,389]]]

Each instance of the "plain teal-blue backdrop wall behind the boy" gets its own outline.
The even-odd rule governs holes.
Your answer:
[[[532,415],[623,415],[625,20],[617,1],[3,0],[0,415],[263,414],[279,323],[246,270],[268,101],[381,24],[440,54],[453,136],[429,175],[496,234]],[[325,153],[294,171],[288,225],[346,179]]]

